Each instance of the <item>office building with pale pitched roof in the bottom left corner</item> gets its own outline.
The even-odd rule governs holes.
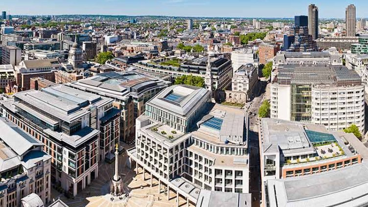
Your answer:
[[[31,193],[48,203],[51,156],[43,152],[45,144],[7,118],[0,118],[0,129],[0,206],[21,206],[21,199]]]

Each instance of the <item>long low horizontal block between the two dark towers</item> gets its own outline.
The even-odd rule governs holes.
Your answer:
[[[358,43],[358,37],[323,37],[316,41],[317,47],[326,50],[330,47],[336,47],[338,50],[350,50],[352,44]]]

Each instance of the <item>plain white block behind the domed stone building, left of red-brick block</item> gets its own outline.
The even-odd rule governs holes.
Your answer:
[[[252,47],[237,49],[231,52],[232,71],[235,73],[241,66],[258,63],[258,57]]]

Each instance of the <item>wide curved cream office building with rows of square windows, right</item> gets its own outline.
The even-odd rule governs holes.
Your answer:
[[[365,133],[361,78],[345,66],[278,65],[271,83],[271,118],[324,125],[341,131],[355,124]]]

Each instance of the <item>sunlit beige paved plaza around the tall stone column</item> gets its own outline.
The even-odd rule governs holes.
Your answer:
[[[124,189],[130,190],[130,198],[127,201],[111,200],[109,195],[110,179],[114,175],[114,162],[112,164],[103,163],[98,169],[98,178],[91,182],[74,199],[67,199],[64,194],[51,188],[51,198],[60,197],[69,207],[176,207],[176,193],[170,191],[170,200],[167,200],[165,187],[161,184],[159,193],[159,183],[153,179],[150,187],[150,175],[146,173],[146,180],[143,181],[142,169],[138,168],[138,175],[134,169],[125,166],[128,157],[126,152],[119,156],[119,173],[124,181]],[[179,199],[179,206],[186,207],[184,198]],[[189,204],[189,207],[194,205]]]

